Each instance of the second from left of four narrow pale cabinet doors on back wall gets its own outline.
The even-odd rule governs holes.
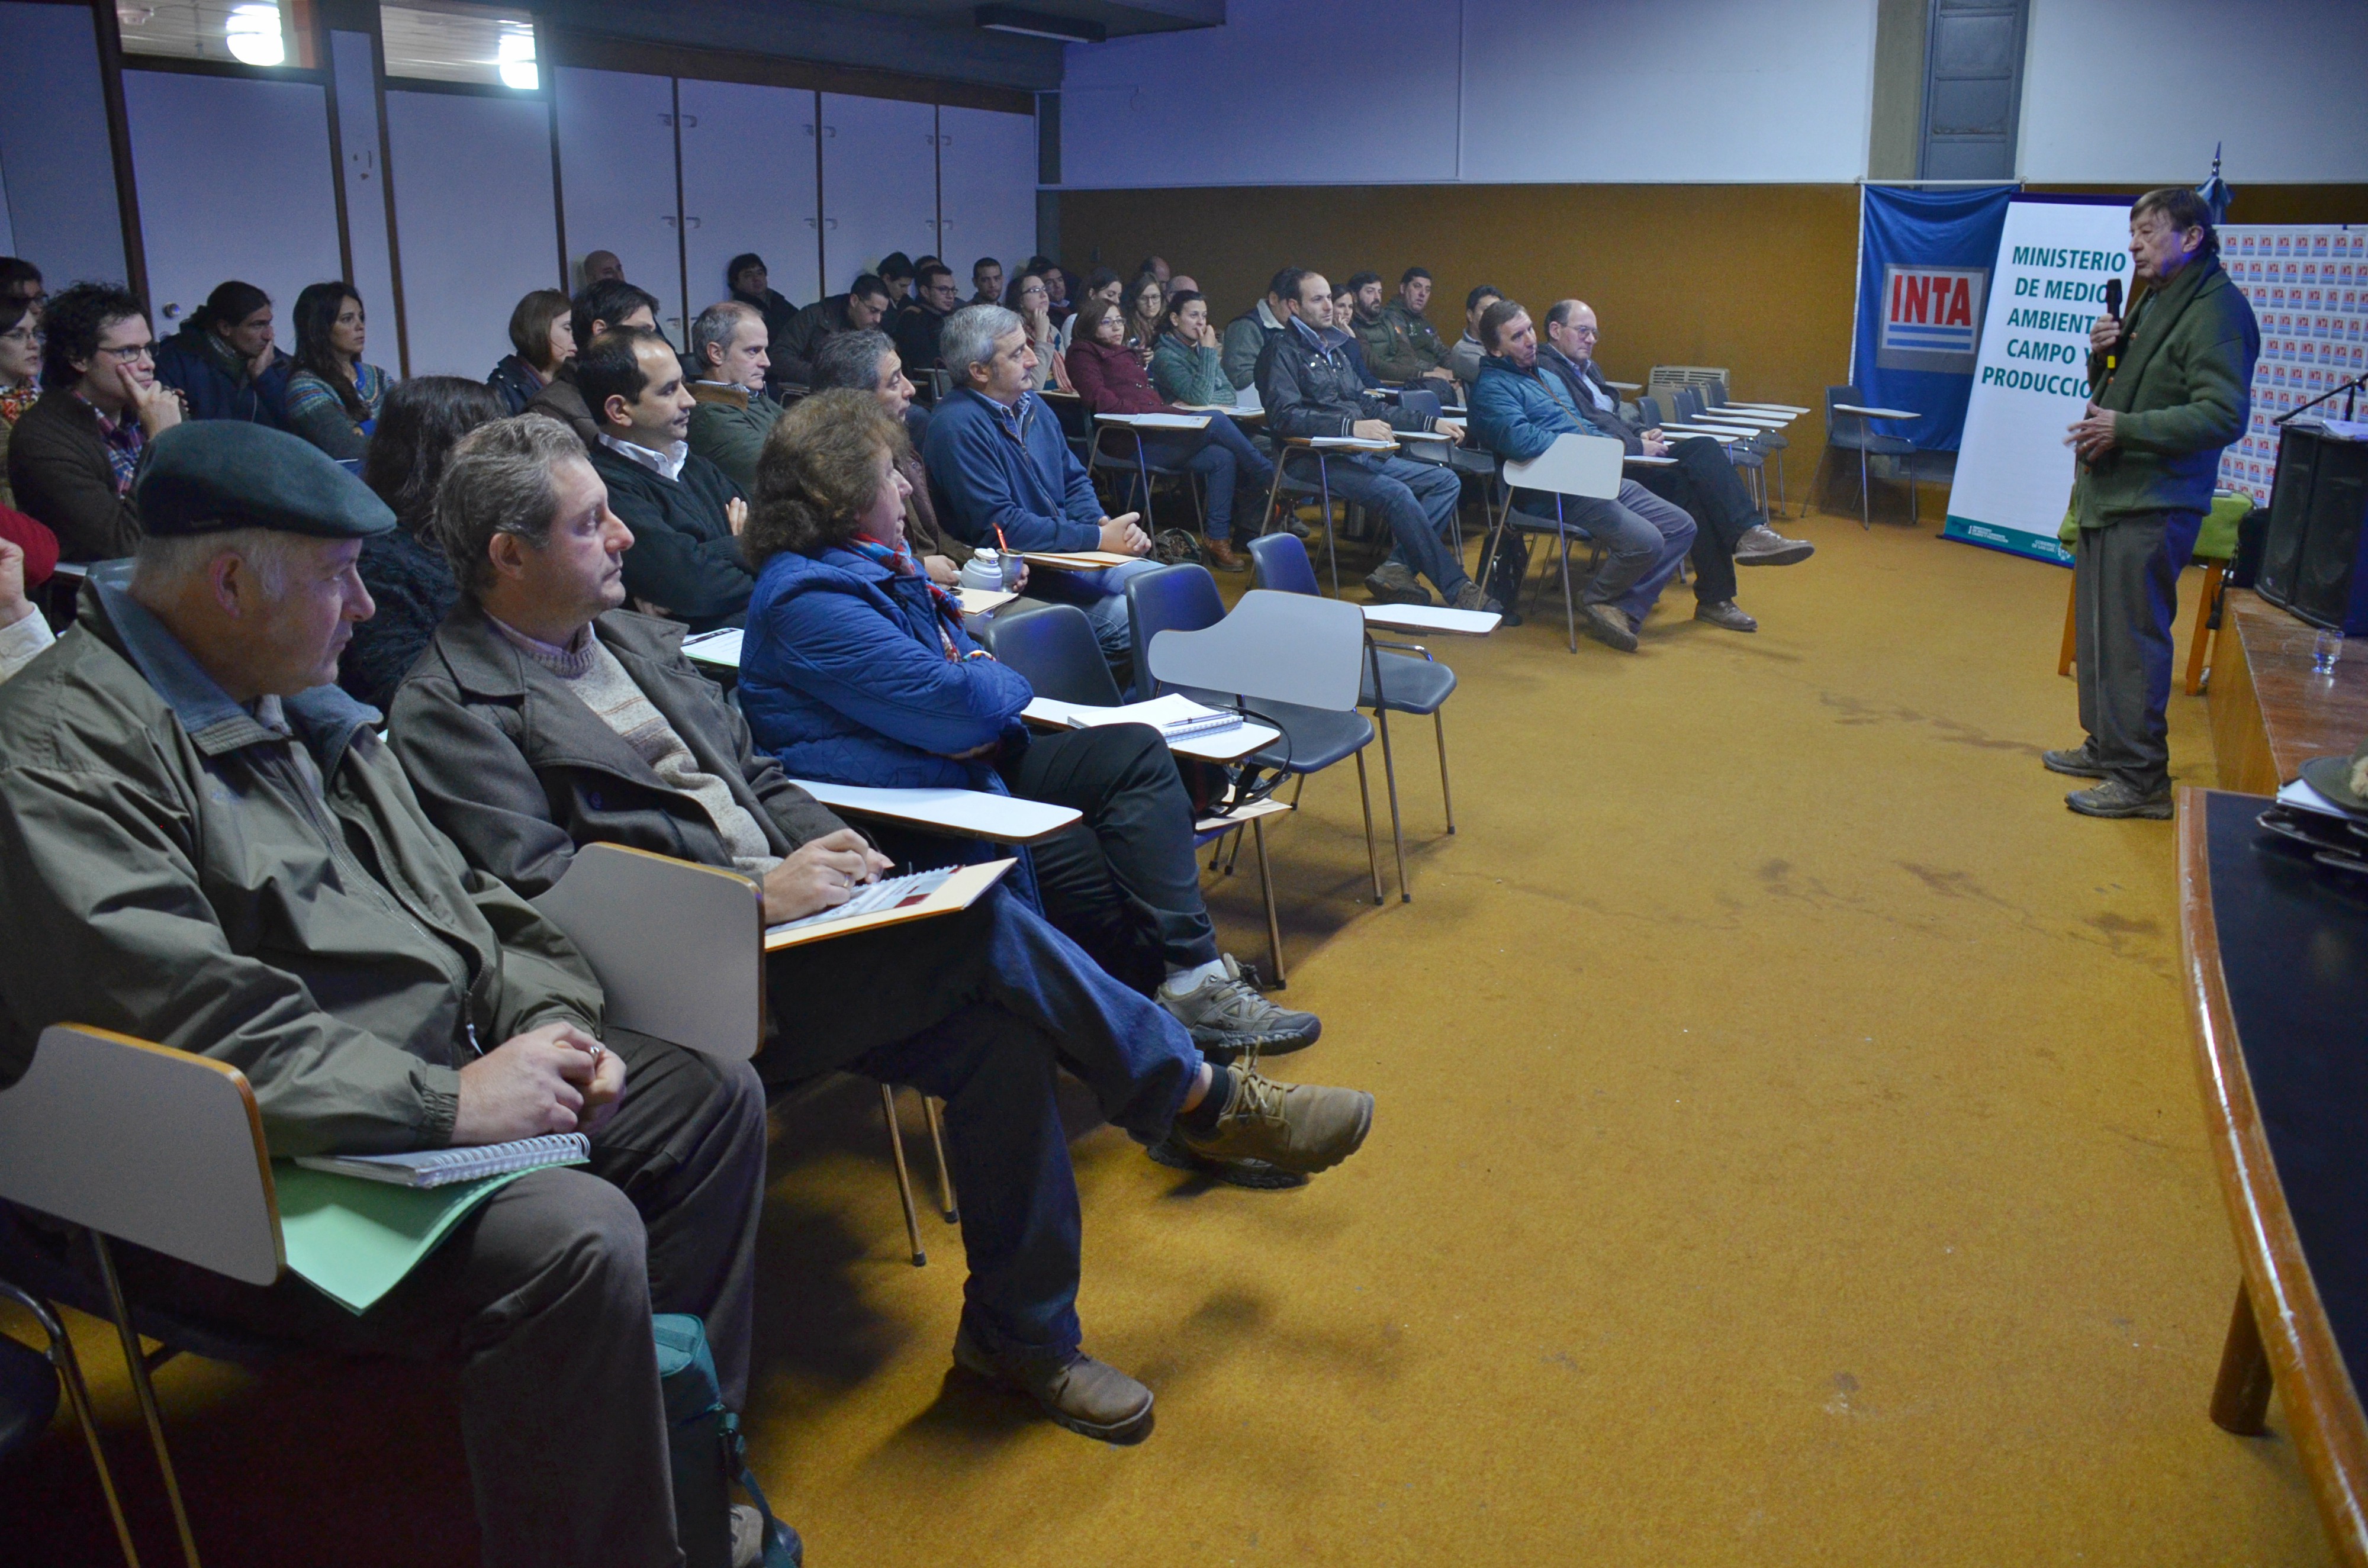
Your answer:
[[[699,315],[727,298],[725,265],[741,251],[765,258],[772,287],[791,303],[815,303],[822,298],[815,95],[689,78],[677,88],[689,289],[682,303]]]

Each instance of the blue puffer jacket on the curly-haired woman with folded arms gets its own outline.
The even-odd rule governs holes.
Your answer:
[[[1004,791],[990,760],[954,753],[1025,744],[1035,692],[992,658],[947,658],[921,578],[836,545],[765,561],[741,644],[741,713],[793,779],[874,789]],[[976,642],[947,628],[957,654]]]

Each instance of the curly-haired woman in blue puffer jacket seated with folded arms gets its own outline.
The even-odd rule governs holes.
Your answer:
[[[1028,682],[961,630],[900,533],[900,431],[867,398],[791,410],[765,443],[765,573],[741,644],[741,708],[791,777],[1014,793],[1085,822],[1030,848],[1044,914],[1210,1049],[1298,1049],[1321,1026],[1274,1007],[1217,952],[1191,798],[1146,725],[1030,737]],[[791,547],[800,545],[800,547]],[[897,855],[959,850],[888,834]],[[976,846],[973,846],[976,848]]]

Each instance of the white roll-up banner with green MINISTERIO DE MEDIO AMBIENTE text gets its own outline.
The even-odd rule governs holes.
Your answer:
[[[2006,204],[1942,538],[2072,564],[2055,542],[2072,505],[2065,429],[2089,407],[2089,327],[2105,310],[2105,279],[2129,289],[2131,201]]]

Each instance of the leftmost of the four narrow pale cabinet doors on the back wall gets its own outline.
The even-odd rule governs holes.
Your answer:
[[[682,189],[675,182],[675,78],[559,66],[559,187],[568,265],[616,251],[625,282],[658,296],[658,332],[682,343]],[[575,279],[568,279],[568,289]]]

